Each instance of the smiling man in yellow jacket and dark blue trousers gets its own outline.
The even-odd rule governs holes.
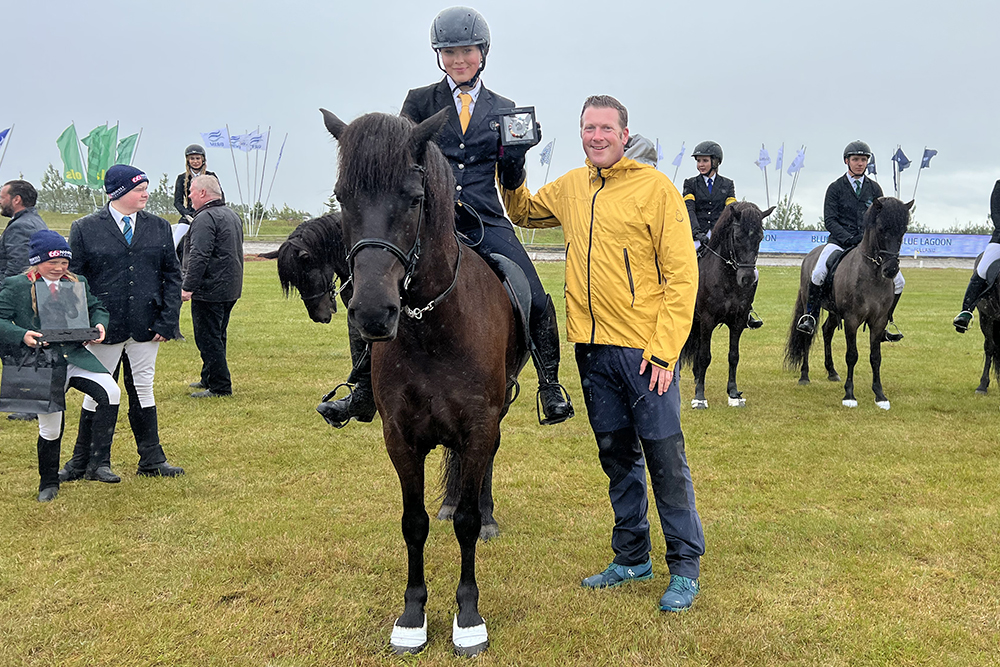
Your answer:
[[[537,194],[523,170],[499,180],[512,222],[562,225],[566,237],[566,330],[615,513],[614,561],[582,585],[653,576],[645,454],[670,569],[660,609],[683,611],[698,593],[705,552],[674,378],[698,293],[691,223],[670,179],[624,157],[628,111],[618,100],[588,98],[580,136],[586,166]]]

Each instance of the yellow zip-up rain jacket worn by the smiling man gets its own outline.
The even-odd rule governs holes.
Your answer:
[[[566,331],[570,342],[643,350],[675,370],[691,331],[698,260],[680,193],[654,167],[590,160],[532,195],[501,187],[511,221],[562,225],[566,237]]]

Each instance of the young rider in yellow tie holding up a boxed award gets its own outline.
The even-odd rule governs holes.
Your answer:
[[[431,48],[446,76],[438,83],[411,90],[403,102],[402,115],[419,123],[442,109],[450,110],[437,144],[455,175],[456,202],[465,211],[473,210],[456,218],[458,231],[472,243],[478,241],[474,250],[490,266],[494,265],[491,254],[502,255],[516,263],[528,279],[531,286],[528,328],[535,348],[532,359],[538,372],[542,423],[558,424],[573,416],[573,406],[558,379],[559,331],[555,307],[513,226],[504,217],[496,189],[498,174],[501,179],[507,175],[520,178],[525,153],[531,146],[500,146],[497,112],[516,105],[487,89],[480,79],[490,51],[490,29],[479,12],[469,7],[442,11],[431,24]],[[540,133],[536,134],[540,140]],[[322,403],[318,408],[334,426],[342,426],[352,417],[371,421],[375,415],[370,371],[359,368],[356,375],[359,377],[350,396]]]

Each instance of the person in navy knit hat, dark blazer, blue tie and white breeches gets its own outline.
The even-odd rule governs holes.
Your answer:
[[[108,206],[80,218],[70,230],[70,270],[87,279],[110,314],[107,338],[91,345],[90,352],[115,377],[123,364],[131,372],[133,382],[126,381],[125,389],[139,451],[136,474],[174,477],[184,470],[167,463],[160,446],[153,377],[160,343],[177,331],[180,264],[170,224],[142,210],[149,200],[148,187],[146,174],[135,167],[118,164],[108,169]],[[96,408],[92,399],[84,399],[73,458],[60,471],[61,481],[77,479],[86,468]]]

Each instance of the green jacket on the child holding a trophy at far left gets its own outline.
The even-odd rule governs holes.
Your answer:
[[[101,324],[107,329],[109,319],[107,309],[90,293],[87,280],[82,276],[78,278],[87,291],[90,326]],[[41,278],[38,282],[45,285],[45,281]],[[29,330],[38,331],[40,326],[38,314],[31,305],[31,280],[24,274],[7,278],[3,290],[0,290],[0,345],[5,351],[16,350],[18,354],[23,353],[28,349],[24,344],[24,334]],[[104,364],[98,361],[82,343],[55,343],[51,348],[58,352],[59,358],[74,366],[94,373],[108,372]]]

